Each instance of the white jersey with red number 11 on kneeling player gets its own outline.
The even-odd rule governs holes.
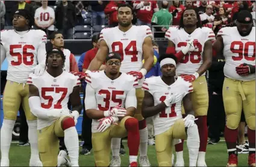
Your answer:
[[[192,83],[186,82],[181,77],[178,77],[172,85],[166,85],[161,79],[161,76],[149,77],[143,83],[142,89],[148,91],[154,97],[154,105],[159,105],[164,102],[168,94],[181,94],[182,98],[164,111],[154,115],[154,131],[155,135],[159,135],[170,129],[176,120],[182,118],[181,102],[186,94],[193,91]],[[176,99],[177,100],[177,99]]]

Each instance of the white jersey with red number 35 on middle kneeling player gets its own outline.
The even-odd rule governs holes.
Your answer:
[[[114,106],[121,105],[122,108],[137,108],[137,99],[135,88],[136,82],[134,77],[126,73],[122,73],[117,79],[111,80],[105,75],[104,71],[89,71],[86,77],[87,87],[95,90],[96,108],[92,104],[86,103],[87,109],[97,109],[100,111],[108,111]],[[134,90],[134,94],[129,94]],[[86,94],[87,96],[88,94]],[[92,95],[93,96],[93,95]],[[130,100],[128,100],[130,99]],[[92,121],[92,132],[98,132],[98,120]]]

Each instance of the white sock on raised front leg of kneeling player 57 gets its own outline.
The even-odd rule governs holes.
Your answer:
[[[78,166],[79,140],[74,126],[64,130],[64,143],[69,153],[70,165]]]

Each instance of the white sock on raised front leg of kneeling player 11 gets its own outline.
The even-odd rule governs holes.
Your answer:
[[[200,146],[200,138],[198,126],[194,124],[187,129],[187,148],[189,149],[189,166],[196,166],[198,160],[198,151]]]

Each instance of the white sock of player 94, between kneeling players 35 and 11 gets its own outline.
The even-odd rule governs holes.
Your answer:
[[[140,156],[147,156],[148,153],[148,127],[140,130]]]

